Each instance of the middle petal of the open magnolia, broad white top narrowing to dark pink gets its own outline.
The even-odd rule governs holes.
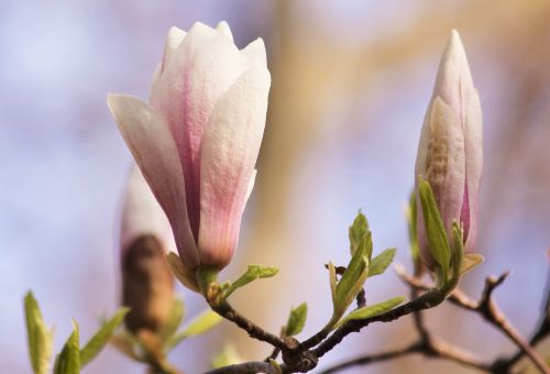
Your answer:
[[[219,97],[243,70],[239,50],[228,37],[196,23],[169,58],[151,95],[153,108],[168,122],[182,160],[187,210],[195,238],[200,222],[202,132]]]

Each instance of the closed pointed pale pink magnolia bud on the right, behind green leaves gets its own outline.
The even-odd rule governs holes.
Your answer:
[[[453,31],[441,57],[433,96],[420,135],[415,174],[428,180],[451,238],[458,220],[466,252],[475,249],[477,193],[483,166],[482,111],[464,47]],[[420,204],[417,205],[420,207]],[[429,267],[433,258],[428,246],[421,209],[418,210],[418,242]]]

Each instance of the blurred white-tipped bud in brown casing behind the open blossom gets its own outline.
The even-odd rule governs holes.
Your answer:
[[[174,278],[166,264],[172,231],[138,167],[130,175],[122,213],[122,304],[131,308],[125,326],[133,333],[157,332],[174,302]]]

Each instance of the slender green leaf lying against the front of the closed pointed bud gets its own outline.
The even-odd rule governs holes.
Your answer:
[[[424,224],[431,255],[439,266],[441,266],[442,274],[447,274],[451,265],[449,239],[430,184],[421,177],[419,177],[418,193],[420,195]]]

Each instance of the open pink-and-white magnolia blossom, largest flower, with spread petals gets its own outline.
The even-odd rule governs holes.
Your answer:
[[[174,230],[184,266],[224,267],[254,182],[271,77],[261,38],[226,22],[172,28],[150,102],[109,95],[119,129]]]

